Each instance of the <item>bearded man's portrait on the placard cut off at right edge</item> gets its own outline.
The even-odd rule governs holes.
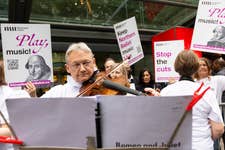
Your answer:
[[[216,26],[213,29],[213,37],[207,42],[207,46],[225,48],[225,27]]]

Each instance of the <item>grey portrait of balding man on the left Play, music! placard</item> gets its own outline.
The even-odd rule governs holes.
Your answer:
[[[51,76],[50,67],[46,64],[45,59],[40,55],[30,56],[25,68],[29,73],[26,82],[33,80],[48,80]]]

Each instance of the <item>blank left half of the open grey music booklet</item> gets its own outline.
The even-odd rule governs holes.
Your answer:
[[[86,137],[96,137],[93,98],[10,99],[6,105],[23,146],[86,148]]]

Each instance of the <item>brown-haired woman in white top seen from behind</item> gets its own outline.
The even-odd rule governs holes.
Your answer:
[[[198,57],[191,50],[181,51],[174,67],[181,76],[180,81],[162,89],[160,95],[193,95],[200,86],[192,79],[199,68]],[[216,96],[208,90],[192,109],[192,150],[213,150],[213,140],[219,138],[223,132],[223,119]]]

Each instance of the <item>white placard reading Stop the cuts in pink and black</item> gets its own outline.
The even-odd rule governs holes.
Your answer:
[[[174,69],[174,61],[184,50],[184,40],[154,42],[155,81],[168,82],[178,80],[179,74]]]

